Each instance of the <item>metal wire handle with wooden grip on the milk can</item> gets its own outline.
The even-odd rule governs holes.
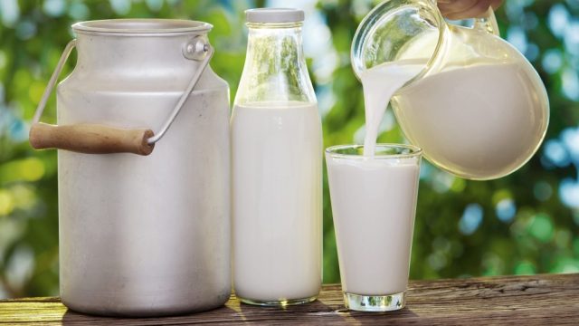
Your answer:
[[[175,108],[156,135],[151,129],[120,129],[84,123],[55,126],[40,122],[44,107],[58,81],[62,67],[75,46],[76,40],[72,40],[64,48],[34,113],[29,136],[30,144],[34,149],[67,149],[86,154],[134,153],[149,155],[153,151],[155,143],[163,138],[167,129],[176,119],[214,54],[213,47],[203,36],[195,36],[188,43],[185,43],[183,48],[185,58],[197,61],[203,59],[203,62],[201,62],[200,69],[195,71],[185,92],[181,95]]]

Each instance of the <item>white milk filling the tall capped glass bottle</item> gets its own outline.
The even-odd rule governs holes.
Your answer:
[[[318,295],[322,140],[316,104],[235,106],[233,282],[258,301]]]

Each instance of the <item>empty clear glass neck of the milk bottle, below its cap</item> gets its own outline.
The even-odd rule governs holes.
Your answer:
[[[235,102],[315,102],[303,53],[302,24],[247,26],[247,54]]]

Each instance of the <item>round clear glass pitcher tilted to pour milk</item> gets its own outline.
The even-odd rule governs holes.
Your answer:
[[[396,120],[426,158],[456,176],[504,177],[545,137],[545,86],[498,36],[491,8],[468,28],[448,24],[435,0],[386,0],[358,26],[351,56],[358,78],[389,64],[411,73],[390,101]]]

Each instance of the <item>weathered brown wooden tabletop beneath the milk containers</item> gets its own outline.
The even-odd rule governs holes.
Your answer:
[[[398,312],[348,312],[339,285],[325,285],[318,301],[287,309],[253,307],[232,297],[211,312],[185,316],[120,319],[66,309],[58,298],[0,301],[0,324],[413,324],[579,325],[579,274],[414,281],[407,306]]]

